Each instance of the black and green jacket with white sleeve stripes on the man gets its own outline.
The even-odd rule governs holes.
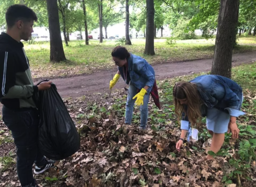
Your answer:
[[[9,109],[36,108],[32,99],[38,92],[34,86],[29,59],[22,42],[17,42],[6,33],[0,35],[0,101]]]

